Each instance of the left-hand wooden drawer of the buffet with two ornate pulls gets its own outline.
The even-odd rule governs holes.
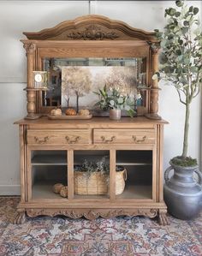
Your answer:
[[[91,130],[89,129],[31,129],[27,130],[27,144],[64,145],[90,144]]]

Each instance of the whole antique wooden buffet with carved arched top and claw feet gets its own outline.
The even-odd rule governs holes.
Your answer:
[[[20,127],[21,202],[15,223],[26,214],[67,217],[159,217],[167,224],[163,202],[163,125],[157,115],[159,88],[151,80],[157,71],[158,42],[153,33],[129,27],[100,15],[65,21],[39,33],[24,33],[27,51],[27,116],[15,122]],[[33,71],[45,70],[45,59],[142,58],[146,85],[138,116],[93,116],[89,120],[50,120],[54,106],[45,104],[45,89],[33,86]],[[50,65],[51,66],[51,65]],[[51,69],[52,67],[50,67]],[[56,73],[56,68],[52,73]],[[56,76],[56,78],[58,78]],[[49,105],[47,104],[49,103]],[[52,102],[52,100],[51,100]],[[58,105],[58,98],[56,105]],[[110,158],[109,192],[102,195],[74,193],[74,164],[80,158]],[[116,195],[116,165],[128,170],[122,194]],[[68,186],[68,197],[52,192],[53,184]]]

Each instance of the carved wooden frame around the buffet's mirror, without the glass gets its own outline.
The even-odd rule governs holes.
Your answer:
[[[146,57],[146,104],[140,115],[159,119],[157,72],[159,42],[154,33],[135,29],[122,21],[100,15],[86,15],[64,21],[38,33],[24,33],[21,40],[27,51],[27,118],[47,114],[54,107],[43,106],[42,92],[34,88],[33,71],[43,70],[45,57]]]

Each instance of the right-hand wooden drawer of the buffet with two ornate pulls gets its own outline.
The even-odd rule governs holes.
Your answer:
[[[94,143],[155,144],[155,129],[94,129]]]

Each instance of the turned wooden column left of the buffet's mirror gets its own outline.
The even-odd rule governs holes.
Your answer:
[[[35,66],[36,45],[33,42],[24,42],[27,56],[27,116],[26,119],[36,119],[36,91],[33,85],[33,70]]]

